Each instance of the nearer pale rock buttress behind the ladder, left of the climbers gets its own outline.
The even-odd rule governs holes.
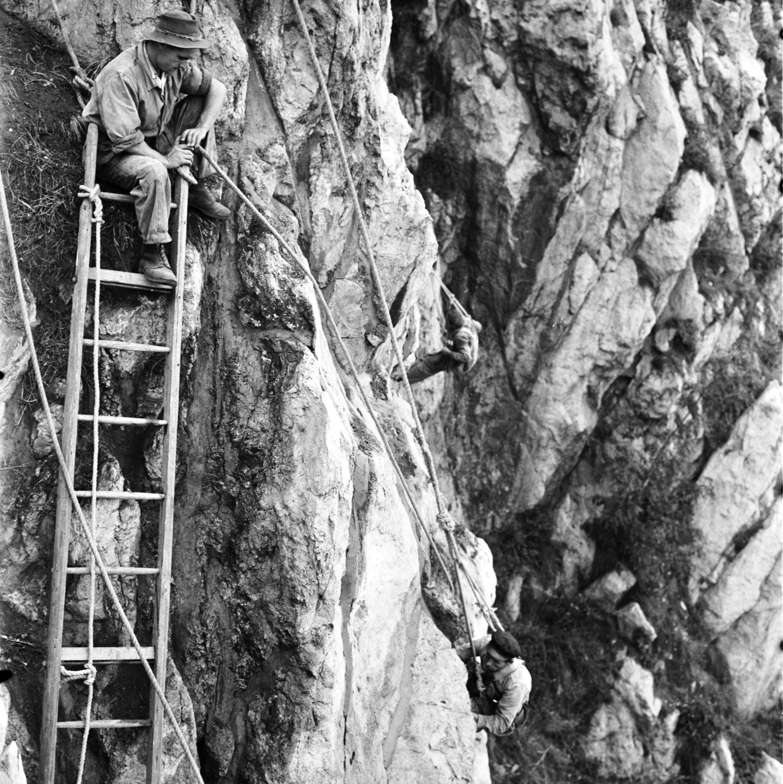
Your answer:
[[[88,63],[139,40],[165,7],[74,2],[63,13]],[[56,37],[32,6],[9,9]],[[205,65],[229,88],[218,124],[223,164],[237,179],[251,180],[279,230],[305,249],[354,361],[371,368],[375,354],[388,352],[387,333],[292,8],[249,5],[232,14],[205,3],[198,11],[215,41]],[[404,334],[437,245],[404,163],[407,125],[381,77],[390,7],[368,5],[356,13],[335,3],[314,9],[310,24],[321,56],[328,53],[332,100]],[[169,691],[205,779],[471,781],[476,743],[464,667],[422,599],[422,580],[435,590],[442,577],[401,502],[375,426],[335,363],[310,284],[244,208],[223,232],[194,221],[189,237]],[[156,342],[162,326],[161,304],[146,297],[110,299],[100,319],[102,335],[114,339]],[[20,339],[16,333],[10,339],[20,346],[22,372]],[[128,361],[110,351],[101,363],[106,412],[157,410],[161,379],[152,359]],[[17,382],[18,373],[9,374],[7,454],[44,459],[50,437],[40,417],[27,418]],[[374,394],[369,375],[363,383]],[[382,387],[375,396],[436,533],[409,412]],[[13,429],[19,416],[27,438],[24,428]],[[155,434],[135,446],[117,435],[103,446],[102,488],[157,486]],[[15,589],[3,601],[5,629],[19,640],[24,633],[38,652],[16,678],[24,678],[27,699],[21,683],[12,685],[12,703],[28,719],[23,753],[31,775],[51,535],[42,526],[51,526],[52,499],[49,481],[36,499],[23,502],[11,492],[5,507],[12,545],[5,573]],[[107,562],[150,561],[155,510],[136,502],[99,506]],[[477,554],[477,578],[493,596],[486,546],[468,532],[462,539]],[[71,561],[84,550],[74,528]],[[20,574],[27,582],[20,583]],[[124,580],[121,593],[143,638],[149,587]],[[101,596],[97,633],[117,640],[114,613]],[[84,641],[85,597],[85,580],[74,582],[66,633],[75,644]],[[452,609],[438,608],[447,615]],[[478,633],[485,628],[476,623]],[[146,689],[136,668],[106,668],[99,683],[98,715],[143,715]],[[77,687],[63,688],[61,702],[61,717],[84,710]],[[171,741],[170,780],[190,780]],[[67,780],[78,737],[60,743],[60,775]],[[143,777],[144,749],[143,733],[100,733],[90,745],[88,771],[94,780],[136,781]]]

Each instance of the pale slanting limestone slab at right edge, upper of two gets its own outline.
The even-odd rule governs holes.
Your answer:
[[[699,583],[720,569],[721,559],[734,536],[759,517],[759,499],[780,472],[783,392],[777,380],[741,416],[727,443],[712,457],[699,477],[701,492],[694,508],[694,528],[700,534],[700,552],[691,572],[691,598],[698,598]]]

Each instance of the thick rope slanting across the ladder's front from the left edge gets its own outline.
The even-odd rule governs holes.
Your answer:
[[[44,409],[44,414],[46,416],[46,424],[49,426],[49,433],[52,434],[52,441],[57,456],[57,462],[60,463],[60,471],[63,474],[63,481],[65,481],[68,495],[71,497],[71,504],[74,508],[74,512],[78,517],[79,524],[82,526],[82,531],[87,538],[90,550],[92,550],[92,554],[95,557],[96,564],[100,570],[100,575],[103,578],[103,583],[106,585],[106,590],[108,591],[109,596],[111,597],[111,601],[114,603],[114,607],[117,609],[118,615],[120,616],[122,625],[125,626],[125,630],[129,634],[133,648],[136,649],[136,653],[139,655],[141,665],[143,666],[144,671],[147,673],[147,677],[150,678],[150,683],[152,684],[155,693],[160,698],[166,715],[169,717],[169,720],[172,723],[172,728],[174,729],[179,743],[182,745],[183,750],[185,751],[185,756],[187,757],[188,762],[190,762],[190,767],[193,769],[196,780],[199,782],[199,784],[204,784],[204,779],[201,778],[201,771],[198,770],[198,763],[196,762],[193,753],[190,751],[190,746],[188,746],[187,739],[185,738],[182,729],[179,727],[179,722],[176,720],[176,716],[172,711],[172,707],[169,705],[169,701],[166,699],[165,691],[161,687],[161,684],[158,683],[158,679],[155,677],[155,673],[147,663],[147,659],[144,657],[143,648],[141,647],[141,644],[136,637],[136,633],[133,630],[133,626],[131,625],[128,616],[125,615],[125,610],[122,608],[117,591],[114,590],[114,586],[111,583],[109,573],[106,571],[105,564],[103,564],[103,558],[100,556],[100,551],[98,550],[95,537],[90,531],[89,525],[85,520],[84,512],[82,511],[82,506],[80,505],[79,499],[76,496],[74,482],[68,472],[68,464],[65,460],[65,456],[63,456],[63,450],[60,447],[60,440],[56,436],[52,409],[49,408],[49,399],[46,397],[46,390],[41,376],[41,367],[38,365],[38,354],[35,350],[35,343],[33,341],[33,331],[30,325],[30,317],[27,314],[27,302],[24,298],[24,286],[22,285],[22,274],[19,269],[19,260],[16,258],[16,245],[14,245],[13,241],[11,217],[9,216],[8,202],[5,199],[5,183],[3,183],[2,172],[0,172],[0,209],[2,209],[3,224],[5,226],[5,237],[8,241],[9,255],[11,256],[13,277],[16,281],[16,296],[19,299],[22,321],[24,323],[24,334],[27,337],[27,346],[30,348],[30,358],[33,365],[35,383],[38,386],[38,394],[41,397],[41,403]]]

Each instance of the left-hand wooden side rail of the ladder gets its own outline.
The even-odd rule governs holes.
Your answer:
[[[87,126],[85,142],[85,185],[95,185],[98,148],[98,126]],[[71,306],[71,343],[68,350],[68,372],[63,406],[63,429],[60,444],[68,470],[73,476],[76,456],[77,415],[82,379],[82,340],[84,339],[87,278],[92,240],[92,203],[82,199],[79,210],[78,248],[76,252],[76,285]],[[41,724],[41,758],[38,781],[52,784],[55,775],[57,742],[57,708],[60,698],[60,652],[63,644],[65,612],[65,580],[68,564],[68,542],[71,535],[71,497],[60,472],[57,485],[57,510],[49,594],[49,639],[46,647],[46,675]]]

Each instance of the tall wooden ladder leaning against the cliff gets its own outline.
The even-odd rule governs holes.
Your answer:
[[[95,185],[96,153],[98,129],[88,125],[85,143],[85,185]],[[131,201],[132,198],[121,194],[101,193],[103,201]],[[147,659],[154,659],[155,677],[165,688],[166,660],[169,642],[169,602],[171,593],[172,539],[174,523],[174,484],[176,470],[176,429],[179,413],[179,364],[182,343],[182,315],[185,270],[185,240],[187,231],[187,181],[176,177],[174,198],[176,209],[172,227],[172,268],[176,273],[177,285],[163,285],[148,281],[142,274],[100,270],[100,284],[141,289],[147,292],[160,292],[168,297],[166,325],[166,345],[148,346],[142,343],[125,343],[115,340],[99,340],[94,346],[92,339],[85,339],[85,306],[89,281],[94,281],[96,268],[90,267],[90,245],[92,240],[92,203],[83,199],[79,213],[78,249],[76,254],[76,284],[74,287],[71,310],[71,346],[68,354],[65,405],[63,410],[63,430],[60,444],[63,448],[71,480],[74,477],[76,456],[76,433],[79,423],[92,423],[92,414],[80,414],[79,398],[82,376],[82,349],[100,348],[125,351],[148,351],[165,354],[165,375],[162,419],[144,419],[127,416],[99,416],[98,421],[107,425],[162,426],[163,456],[161,463],[161,493],[142,492],[98,492],[99,499],[136,499],[159,501],[161,504],[158,528],[158,568],[115,567],[107,568],[110,575],[155,575],[157,577],[156,612],[154,619],[154,645],[144,649]],[[79,490],[76,495],[89,498],[89,490]],[[71,532],[71,497],[66,481],[60,474],[57,488],[56,528],[52,564],[51,597],[49,600],[49,642],[46,653],[46,674],[43,698],[43,720],[41,729],[41,757],[39,782],[53,784],[56,771],[57,730],[78,729],[85,726],[84,721],[58,721],[57,709],[60,692],[60,666],[66,662],[86,662],[87,648],[63,647],[63,615],[65,612],[65,589],[67,575],[89,574],[89,567],[68,566],[68,540]],[[99,575],[100,579],[100,575]],[[135,648],[93,648],[93,661],[132,662],[139,661]],[[161,781],[162,739],[165,713],[158,695],[150,686],[150,713],[144,719],[101,719],[92,720],[91,728],[121,729],[149,727],[149,746],[147,752],[147,784]]]

